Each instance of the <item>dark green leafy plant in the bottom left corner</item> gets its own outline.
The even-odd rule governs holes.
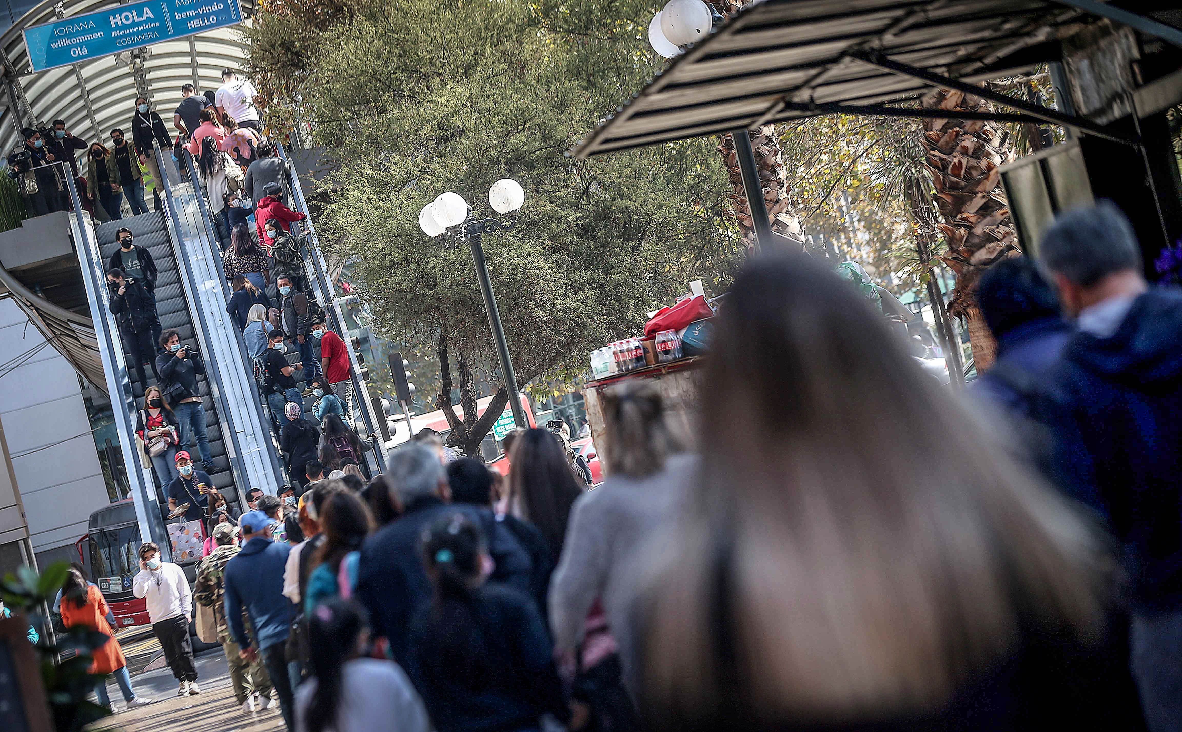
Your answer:
[[[25,615],[39,628],[50,628],[51,621],[45,608],[65,582],[70,566],[65,562],[52,564],[38,574],[31,567],[21,567],[0,580],[0,599],[5,604]],[[43,633],[38,641],[37,655],[41,666],[45,694],[53,713],[53,726],[58,732],[77,732],[90,723],[110,714],[110,710],[86,700],[99,677],[90,673],[91,654],[109,638],[97,630],[74,627],[58,634],[50,642]],[[74,655],[59,660],[61,655]]]

